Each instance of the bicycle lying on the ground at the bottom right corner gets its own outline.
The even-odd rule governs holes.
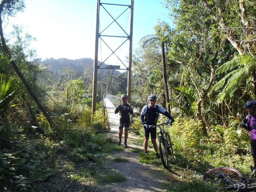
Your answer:
[[[256,179],[253,176],[256,168],[250,166],[252,174],[249,178],[244,178],[242,172],[231,167],[217,167],[207,171],[203,180],[215,188],[226,188],[227,190],[253,191],[256,190]]]

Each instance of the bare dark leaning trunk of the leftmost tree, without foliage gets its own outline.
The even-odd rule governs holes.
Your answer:
[[[3,26],[2,26],[2,11],[3,11],[3,4],[1,4],[2,6],[0,7],[0,36],[1,36],[1,41],[2,41],[2,46],[3,46],[3,51],[5,53],[9,53],[9,58],[12,59],[11,53],[9,52],[8,47],[6,46],[5,40],[4,40],[4,33],[3,33]],[[45,118],[47,119],[47,121],[49,122],[50,125],[52,125],[52,118],[51,116],[47,113],[47,111],[45,110],[45,108],[42,106],[41,102],[39,101],[39,99],[36,97],[36,94],[32,91],[32,89],[30,88],[29,84],[27,83],[26,79],[24,78],[24,76],[22,75],[22,73],[20,72],[18,66],[16,65],[16,63],[12,60],[11,61],[13,68],[15,69],[16,73],[18,74],[18,76],[20,77],[22,83],[24,84],[24,86],[27,88],[28,93],[30,94],[30,96],[35,100],[38,108],[43,112]]]

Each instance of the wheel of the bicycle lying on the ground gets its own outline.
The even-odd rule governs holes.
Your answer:
[[[231,168],[231,167],[217,167],[217,168],[211,169],[204,174],[203,180],[207,184],[214,186],[215,188],[225,187],[227,190],[234,189],[234,187],[231,183],[229,183],[228,181],[225,181],[223,179],[220,179],[218,177],[218,175],[220,173],[229,174],[229,175],[226,175],[226,177],[230,178],[231,180],[233,180],[235,182],[243,182],[243,180],[244,180],[243,173],[241,173],[237,169]]]

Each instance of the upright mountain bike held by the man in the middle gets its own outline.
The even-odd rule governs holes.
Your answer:
[[[173,154],[172,146],[174,145],[172,144],[169,133],[164,131],[164,125],[167,125],[169,123],[170,122],[167,121],[158,125],[148,125],[149,128],[158,127],[158,130],[159,130],[159,132],[157,132],[158,149],[159,149],[160,157],[165,169],[168,169],[169,167],[169,155]]]

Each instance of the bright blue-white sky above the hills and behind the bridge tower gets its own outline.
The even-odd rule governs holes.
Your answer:
[[[96,0],[25,0],[24,12],[18,13],[16,18],[10,19],[4,33],[7,37],[12,24],[22,25],[24,32],[28,32],[36,38],[36,41],[32,42],[31,48],[36,49],[39,58],[94,59],[96,2]],[[101,0],[101,3],[128,5],[130,0]],[[164,3],[164,0],[134,0],[133,49],[138,47],[141,37],[154,34],[154,26],[158,19],[171,22],[167,17],[167,10],[161,3]],[[108,9],[107,5],[105,7]],[[112,16],[115,14],[118,16],[118,13],[123,12],[124,9],[122,6],[109,7],[111,7],[108,10]],[[106,12],[101,9],[101,30],[104,25],[113,21],[104,14]],[[118,21],[124,24],[126,29],[129,29],[130,18],[128,17],[129,10]],[[115,27],[108,30],[110,33],[117,31]],[[115,42],[114,39],[109,41],[109,45],[113,43],[113,50],[118,46],[115,45]],[[108,55],[103,44],[102,41],[99,42],[99,60],[104,60]],[[125,44],[129,48],[129,41]],[[123,45],[121,51],[118,50],[122,60],[128,56],[127,47]],[[107,64],[116,64],[116,61],[109,62],[106,61]]]

